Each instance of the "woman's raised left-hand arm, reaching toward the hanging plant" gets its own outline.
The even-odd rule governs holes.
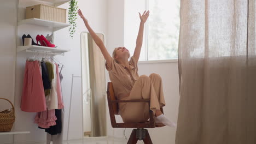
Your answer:
[[[104,56],[104,58],[106,59],[107,64],[112,67],[112,57],[109,55],[103,41],[98,37],[98,35],[94,32],[94,30],[92,30],[92,28],[90,27],[88,20],[85,19],[82,11],[79,9],[78,10],[78,14],[79,16],[83,19],[84,24],[86,26],[86,28],[88,29],[89,33],[91,34],[92,39],[94,39],[95,43],[97,44],[98,47],[100,47],[101,53]]]

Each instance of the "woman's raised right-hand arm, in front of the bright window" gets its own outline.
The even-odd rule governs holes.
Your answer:
[[[138,31],[138,36],[136,40],[136,47],[135,51],[133,53],[133,56],[136,59],[136,62],[138,62],[139,55],[141,54],[141,47],[142,47],[142,41],[143,41],[143,33],[144,33],[144,23],[147,21],[149,16],[149,11],[146,12],[144,11],[143,15],[139,13],[139,18],[141,19],[141,23],[139,24],[139,31]]]

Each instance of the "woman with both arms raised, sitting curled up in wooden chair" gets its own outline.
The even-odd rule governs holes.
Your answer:
[[[144,11],[143,15],[139,13],[141,23],[136,41],[135,52],[131,57],[130,52],[125,47],[117,47],[111,57],[104,46],[103,41],[89,26],[82,11],[78,10],[79,16],[83,19],[86,28],[91,34],[92,39],[106,59],[106,69],[109,71],[110,80],[113,83],[114,93],[118,100],[150,99],[150,110],[153,111],[156,123],[175,127],[175,124],[169,121],[160,111],[160,107],[165,106],[164,95],[162,92],[162,80],[158,74],[138,76],[138,59],[141,53],[144,23],[147,21],[149,11]],[[148,103],[120,103],[119,113],[125,123],[146,122],[149,119]]]

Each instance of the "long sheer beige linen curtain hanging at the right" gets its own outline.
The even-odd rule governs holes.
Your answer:
[[[184,0],[180,14],[176,144],[255,144],[255,1]]]

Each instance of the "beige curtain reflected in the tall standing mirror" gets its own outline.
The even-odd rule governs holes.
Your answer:
[[[103,34],[97,34],[104,41]],[[91,130],[92,136],[106,136],[106,86],[105,60],[100,48],[88,34],[89,69],[91,88]]]

